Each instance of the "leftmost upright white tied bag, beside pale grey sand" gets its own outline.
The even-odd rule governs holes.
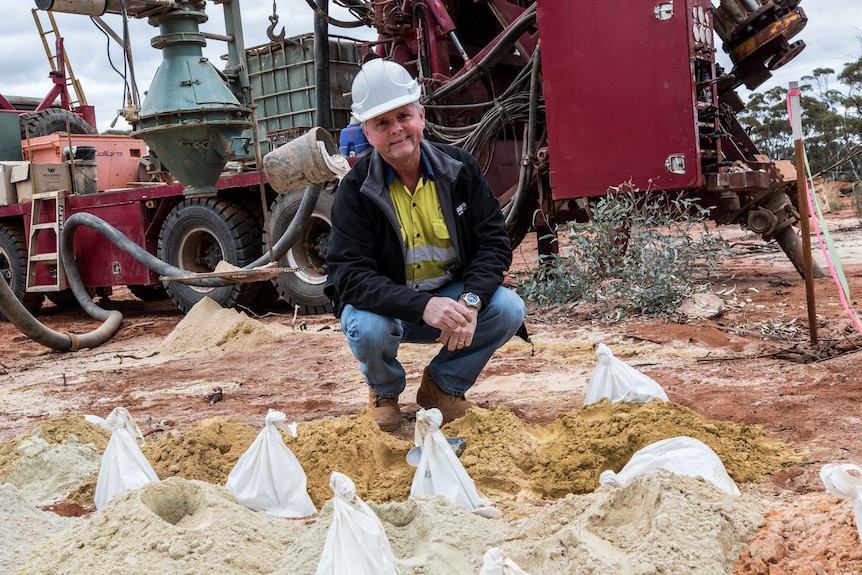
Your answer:
[[[96,509],[104,507],[120,491],[138,489],[159,480],[138,446],[137,441],[144,445],[144,435],[128,410],[115,408],[105,423],[111,430],[111,439],[99,466],[94,497]]]

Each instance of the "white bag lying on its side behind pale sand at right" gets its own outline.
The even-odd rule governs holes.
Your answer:
[[[635,452],[619,473],[610,469],[599,476],[602,485],[621,487],[642,473],[659,467],[677,475],[702,477],[730,495],[739,495],[739,488],[727,474],[718,455],[705,443],[693,437],[671,437],[647,445]]]

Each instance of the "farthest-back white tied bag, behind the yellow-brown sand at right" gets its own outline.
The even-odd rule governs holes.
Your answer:
[[[646,403],[654,398],[668,401],[664,389],[652,378],[617,359],[610,348],[600,343],[596,348],[599,364],[590,375],[584,405],[607,397],[612,402]]]

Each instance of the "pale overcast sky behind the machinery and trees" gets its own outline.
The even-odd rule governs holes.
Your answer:
[[[269,0],[241,0],[243,31],[247,47],[267,42],[268,16],[272,13]],[[586,1],[586,0],[578,0]],[[714,2],[717,4],[717,0]],[[30,13],[35,6],[33,0],[3,0],[0,18],[0,93],[14,96],[42,97],[51,88],[48,79],[48,62],[39,41],[36,25]],[[287,35],[310,33],[313,29],[313,13],[305,0],[277,0],[281,18],[279,26],[285,25]],[[791,81],[801,80],[815,68],[833,68],[840,72],[848,62],[862,54],[862,2],[859,0],[803,0],[800,6],[808,15],[808,24],[795,38],[805,41],[807,47],[802,54],[785,67],[776,71],[773,78],[758,88],[763,91],[774,86],[786,87]],[[333,8],[333,15],[344,16]],[[209,22],[202,30],[223,33],[222,8],[208,3]],[[56,14],[61,35],[75,75],[81,81],[84,93],[91,105],[96,107],[99,130],[110,127],[116,110],[122,105],[123,88],[120,77],[114,73],[107,58],[107,40],[86,16]],[[104,20],[116,31],[122,21],[119,16],[105,15]],[[43,15],[43,22],[48,19]],[[146,21],[133,20],[130,24],[132,50],[135,55],[136,77],[143,92],[161,61],[161,52],[150,46],[150,39],[157,29]],[[371,37],[365,28],[333,29],[332,33],[353,37]],[[205,49],[217,67],[218,60],[226,52],[221,42],[211,42]],[[111,41],[113,62],[122,69],[119,47]],[[729,60],[724,59],[729,69]],[[746,93],[742,92],[743,98]],[[120,119],[116,128],[128,128]]]

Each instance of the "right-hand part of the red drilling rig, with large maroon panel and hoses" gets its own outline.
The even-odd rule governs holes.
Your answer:
[[[429,137],[480,158],[513,243],[536,229],[553,250],[542,238],[611,188],[685,191],[802,273],[795,173],[757,150],[735,91],[802,51],[799,0],[344,4],[419,78]]]

